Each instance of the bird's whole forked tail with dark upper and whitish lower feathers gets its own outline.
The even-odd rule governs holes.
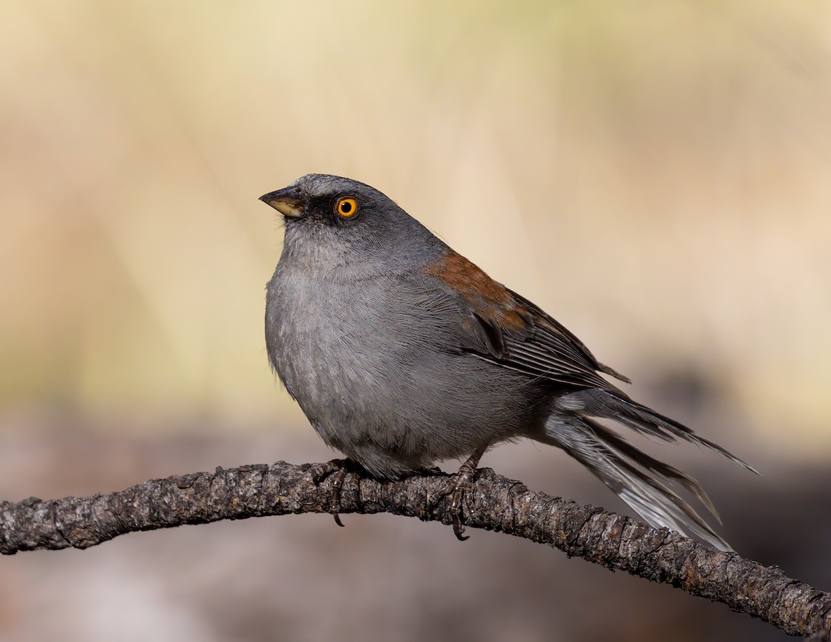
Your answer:
[[[583,391],[589,392],[607,395],[605,391]],[[719,520],[715,506],[696,480],[647,455],[585,415],[613,418],[638,432],[666,441],[674,442],[676,437],[681,437],[720,452],[755,472],[752,467],[686,426],[625,396],[614,395],[612,398],[608,394],[611,399],[602,403],[597,403],[597,399],[593,399],[593,403],[585,397],[582,400],[568,397],[560,400],[565,412],[554,412],[546,423],[543,436],[536,437],[538,441],[563,448],[652,526],[666,526],[686,536],[697,537],[721,551],[732,550],[676,492],[678,488],[691,492]]]

